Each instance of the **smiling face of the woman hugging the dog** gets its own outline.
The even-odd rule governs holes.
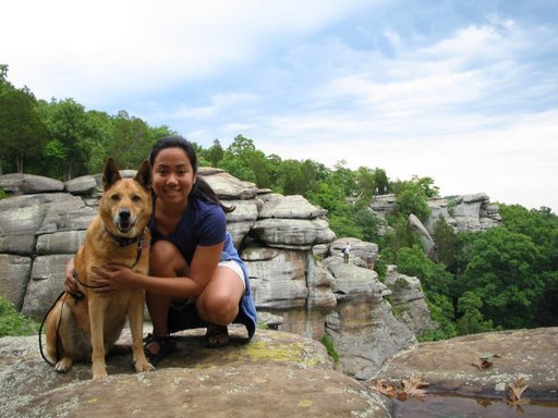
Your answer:
[[[153,164],[153,189],[166,204],[187,201],[196,181],[190,158],[182,148],[165,148]]]

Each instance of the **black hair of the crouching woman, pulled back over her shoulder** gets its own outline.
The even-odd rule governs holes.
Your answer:
[[[186,139],[184,139],[182,136],[163,136],[162,138],[159,138],[154,146],[151,147],[151,152],[149,153],[149,162],[151,163],[151,167],[154,167],[155,158],[157,155],[167,148],[180,148],[182,149],[187,158],[190,159],[190,163],[192,164],[192,169],[194,170],[194,174],[197,174],[197,156],[194,147],[192,144],[190,144]],[[217,195],[215,194],[214,189],[207,182],[203,179],[201,179],[198,175],[196,175],[197,180],[192,186],[191,196],[194,198],[199,198],[206,201],[210,201],[213,204],[219,205],[222,210],[225,210],[225,213],[232,212],[234,210],[234,206],[225,206]]]

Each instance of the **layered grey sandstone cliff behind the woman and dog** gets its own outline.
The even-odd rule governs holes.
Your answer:
[[[135,171],[122,174],[130,177]],[[414,344],[413,332],[385,299],[391,291],[373,271],[376,244],[336,238],[326,211],[302,196],[259,190],[219,169],[204,168],[199,175],[235,207],[227,216],[228,229],[248,268],[256,308],[280,317],[280,330],[315,340],[327,331],[341,367],[362,379]],[[8,184],[2,179],[0,184]],[[36,176],[9,180],[14,195],[0,200],[0,291],[23,314],[41,320],[96,214],[100,176],[72,180],[63,190],[58,183],[52,189],[40,186],[44,193],[35,193]],[[343,265],[347,241],[352,250]]]

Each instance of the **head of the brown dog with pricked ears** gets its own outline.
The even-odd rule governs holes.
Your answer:
[[[134,179],[122,179],[116,161],[109,158],[102,170],[105,193],[99,213],[105,228],[117,236],[143,233],[151,216],[151,165],[144,161]]]

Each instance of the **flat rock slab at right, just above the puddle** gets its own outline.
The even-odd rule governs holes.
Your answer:
[[[505,398],[508,383],[529,384],[523,397],[558,398],[558,328],[487,332],[421,343],[386,362],[375,379],[401,382],[423,377],[428,392]],[[481,357],[493,356],[481,368]]]

